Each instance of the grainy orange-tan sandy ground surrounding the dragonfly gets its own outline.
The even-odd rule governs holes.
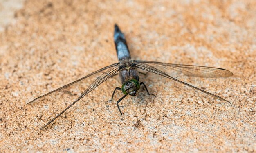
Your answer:
[[[255,152],[256,1],[1,1],[0,152]],[[12,5],[9,5],[12,6]],[[18,9],[17,9],[18,8]],[[16,11],[15,11],[16,10]],[[8,13],[6,15],[4,13]],[[113,26],[133,59],[214,66],[228,78],[173,73],[229,101],[155,74],[121,103],[112,77],[46,129],[96,76],[25,105],[61,85],[117,62]]]

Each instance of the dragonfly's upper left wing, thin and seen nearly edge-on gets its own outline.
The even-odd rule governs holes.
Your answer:
[[[34,102],[34,101],[36,101],[36,100],[38,100],[38,99],[40,99],[40,98],[43,98],[43,97],[45,97],[45,96],[47,96],[47,95],[49,95],[49,94],[52,94],[52,93],[57,92],[57,91],[59,91],[59,90],[62,90],[62,89],[64,89],[64,88],[67,88],[67,87],[69,87],[69,86],[71,86],[71,85],[73,85],[73,84],[75,84],[75,83],[78,83],[79,81],[82,81],[82,80],[84,80],[84,79],[86,79],[86,78],[88,78],[88,77],[90,77],[90,76],[92,76],[92,75],[94,75],[94,74],[97,74],[97,73],[99,73],[99,72],[101,72],[101,71],[103,71],[103,70],[106,70],[106,69],[108,69],[108,68],[112,68],[112,67],[114,67],[114,66],[117,66],[118,64],[119,64],[119,63],[115,63],[115,64],[112,64],[112,65],[110,65],[110,66],[106,66],[106,67],[104,67],[104,68],[101,68],[101,69],[99,69],[99,70],[97,70],[97,71],[95,71],[95,72],[92,72],[91,74],[88,74],[88,75],[86,75],[85,77],[82,77],[82,78],[80,78],[80,79],[78,79],[78,80],[76,80],[76,81],[74,81],[74,82],[68,83],[67,85],[64,85],[64,86],[62,86],[62,87],[59,87],[59,88],[56,89],[56,90],[53,90],[53,91],[51,91],[51,92],[48,92],[47,94],[44,94],[44,95],[42,95],[42,96],[39,96],[39,97],[35,98],[34,100],[30,101],[29,103],[32,103],[32,102]],[[27,103],[27,104],[29,104],[29,103]]]

